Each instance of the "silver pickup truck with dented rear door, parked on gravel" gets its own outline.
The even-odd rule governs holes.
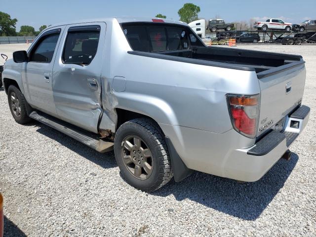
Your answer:
[[[118,17],[48,27],[2,80],[18,123],[114,149],[124,179],[154,191],[193,170],[260,179],[308,122],[304,63],[207,47],[183,22]]]

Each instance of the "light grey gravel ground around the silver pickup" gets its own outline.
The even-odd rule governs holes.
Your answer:
[[[122,180],[113,153],[37,122],[15,123],[2,88],[5,236],[316,236],[316,46],[237,47],[306,60],[303,103],[312,111],[290,161],[279,160],[254,183],[195,172],[147,194]]]

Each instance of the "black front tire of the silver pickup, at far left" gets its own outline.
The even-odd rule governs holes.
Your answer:
[[[19,104],[19,108],[20,108],[18,115],[16,115],[13,107],[11,106],[11,104],[14,103],[12,99],[13,93],[18,99],[17,103]],[[32,121],[32,118],[30,118],[26,112],[26,108],[25,108],[26,100],[24,98],[24,95],[15,85],[10,85],[8,88],[8,103],[9,103],[11,114],[17,123],[25,124]]]

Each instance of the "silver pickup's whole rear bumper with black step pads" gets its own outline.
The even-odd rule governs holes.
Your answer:
[[[234,129],[225,133],[213,133],[177,125],[159,125],[187,168],[254,182],[288,150],[303,131],[309,115],[310,109],[301,106],[286,117],[287,125],[283,132],[272,130],[257,142],[240,135]],[[291,121],[298,121],[298,127],[291,128]]]

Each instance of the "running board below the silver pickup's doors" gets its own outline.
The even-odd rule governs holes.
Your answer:
[[[42,113],[39,114],[36,111],[30,114],[30,118],[33,118],[70,136],[98,152],[103,153],[113,150],[113,142],[106,142],[98,138],[97,135],[94,136],[94,134],[89,134],[86,131],[80,131],[80,129],[76,129],[74,125],[67,124],[66,122],[61,121],[58,118],[54,118]]]

